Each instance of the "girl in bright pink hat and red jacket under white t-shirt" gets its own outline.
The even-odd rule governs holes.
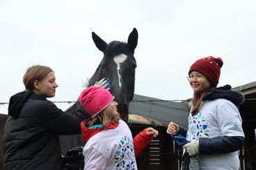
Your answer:
[[[120,119],[118,103],[109,90],[92,86],[79,101],[90,118],[81,122],[84,169],[137,169],[138,155],[158,131],[146,128],[132,139],[131,130]]]

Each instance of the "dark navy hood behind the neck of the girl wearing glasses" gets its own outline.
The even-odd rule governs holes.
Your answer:
[[[202,101],[211,101],[214,99],[227,99],[236,105],[237,107],[244,102],[244,95],[237,91],[231,90],[231,85],[225,85],[223,87],[218,87],[210,90],[205,94]]]

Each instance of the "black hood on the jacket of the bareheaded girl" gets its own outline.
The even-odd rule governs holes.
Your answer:
[[[10,97],[8,114],[15,119],[19,117],[19,112],[22,110],[22,107],[27,99],[46,100],[46,97],[41,94],[35,94],[29,90],[19,92]]]

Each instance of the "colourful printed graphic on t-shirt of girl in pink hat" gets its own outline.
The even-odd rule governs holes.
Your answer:
[[[133,140],[125,136],[119,142],[117,151],[115,151],[114,160],[116,169],[130,169],[136,167],[136,159],[134,155]]]

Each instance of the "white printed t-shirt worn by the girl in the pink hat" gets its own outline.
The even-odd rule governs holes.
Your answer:
[[[122,120],[117,128],[91,137],[83,147],[83,155],[85,170],[137,169],[131,130]]]

